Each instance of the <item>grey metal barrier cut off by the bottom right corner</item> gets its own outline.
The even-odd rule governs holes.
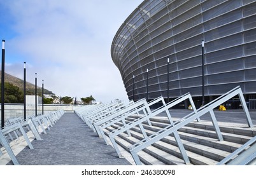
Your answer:
[[[229,154],[217,165],[256,165],[256,136]]]

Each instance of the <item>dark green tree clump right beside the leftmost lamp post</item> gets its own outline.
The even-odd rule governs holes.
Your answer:
[[[2,83],[0,83],[0,87]],[[14,86],[11,83],[4,82],[4,102],[5,103],[23,103],[24,97],[23,92],[18,88],[18,86]],[[1,91],[0,91],[0,99],[1,99]]]

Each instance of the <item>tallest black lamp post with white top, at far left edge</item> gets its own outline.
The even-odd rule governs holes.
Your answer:
[[[5,58],[5,40],[2,41],[2,78],[1,78],[1,128],[4,128],[4,58]]]

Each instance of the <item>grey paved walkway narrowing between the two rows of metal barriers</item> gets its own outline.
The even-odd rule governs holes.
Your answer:
[[[20,165],[131,165],[75,113],[65,113],[46,132],[43,140],[32,141],[34,149],[25,147],[16,156]]]

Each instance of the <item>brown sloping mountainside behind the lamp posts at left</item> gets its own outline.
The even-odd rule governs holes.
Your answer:
[[[1,83],[1,78],[2,78],[2,74],[0,71],[0,83]],[[23,91],[24,81],[20,78],[4,73],[4,82],[8,82],[8,83],[11,83],[12,85],[18,86],[18,88],[20,88],[20,90]],[[27,95],[34,95],[34,88],[35,88],[34,84],[26,81],[25,87],[26,87]],[[42,88],[41,87],[37,87],[37,88],[38,88],[38,93],[42,93]],[[43,88],[43,93],[46,95],[54,95],[52,91],[46,90],[45,88]]]

